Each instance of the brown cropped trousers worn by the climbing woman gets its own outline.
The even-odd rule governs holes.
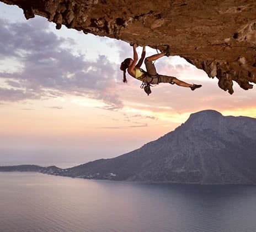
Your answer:
[[[158,75],[156,71],[156,67],[150,60],[145,59],[144,63],[146,65],[147,72],[150,75]],[[146,77],[146,81],[151,82],[151,84],[158,84],[158,83],[172,83],[173,79],[175,79],[174,76],[166,76],[166,75],[158,75],[158,76],[159,76],[159,82],[158,82],[158,78],[152,79],[150,76]]]

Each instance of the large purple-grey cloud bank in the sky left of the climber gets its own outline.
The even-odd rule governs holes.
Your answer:
[[[89,60],[76,56],[49,30],[49,23],[36,17],[28,23],[10,23],[0,19],[0,60],[15,58],[22,69],[1,71],[0,79],[8,88],[0,89],[1,101],[38,100],[65,94],[87,96],[103,101],[106,109],[122,108],[115,91],[116,65],[108,57]]]

